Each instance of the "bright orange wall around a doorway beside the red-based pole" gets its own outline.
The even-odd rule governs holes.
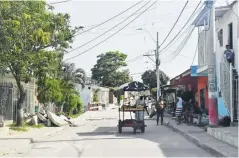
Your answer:
[[[206,76],[201,76],[198,77],[198,104],[201,105],[200,103],[200,90],[205,89],[205,107],[208,109],[208,90],[207,90],[207,84],[208,84],[208,77]]]

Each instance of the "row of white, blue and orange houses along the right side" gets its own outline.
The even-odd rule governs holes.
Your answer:
[[[198,65],[191,66],[182,74],[171,79],[170,84],[191,85],[201,108],[208,110],[208,54],[213,50],[212,34],[215,32],[216,52],[213,53],[216,65],[216,88],[219,116],[230,116],[238,120],[238,70],[239,70],[239,7],[234,1],[230,5],[215,8],[215,30],[210,27],[211,9],[205,7],[193,22],[198,28]],[[212,14],[213,15],[213,14]],[[228,45],[234,52],[234,67],[224,54]]]

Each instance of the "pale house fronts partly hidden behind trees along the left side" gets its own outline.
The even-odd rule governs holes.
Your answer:
[[[90,78],[87,79],[86,85],[84,88],[77,86],[77,91],[81,96],[85,110],[88,109],[88,105],[92,104],[94,93],[97,90],[97,101],[100,104],[109,104],[115,103],[116,98],[113,93],[110,92],[109,88],[99,87],[90,81]],[[25,102],[23,104],[24,113],[34,114],[37,109],[43,107],[37,100],[37,85],[35,80],[25,84],[22,83],[24,90],[26,92]],[[16,116],[16,104],[19,94],[17,90],[17,85],[15,79],[11,74],[6,74],[0,76],[0,115],[4,116],[5,120],[13,120]],[[54,104],[48,104],[48,109],[52,112],[56,112],[56,106]]]

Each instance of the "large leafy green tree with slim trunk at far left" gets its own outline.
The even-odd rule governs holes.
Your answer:
[[[48,67],[49,63],[56,62],[47,57],[57,56],[69,48],[77,31],[70,28],[68,14],[55,14],[52,9],[44,1],[0,3],[0,63],[11,71],[19,90],[18,126],[22,125],[26,96],[23,82],[28,83],[35,77],[42,64]]]

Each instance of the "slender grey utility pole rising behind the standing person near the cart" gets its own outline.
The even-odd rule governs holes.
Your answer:
[[[157,101],[159,97],[161,96],[161,90],[160,90],[160,79],[159,79],[159,41],[158,41],[158,32],[157,32],[157,41],[156,41],[156,50],[155,50],[155,58],[156,58],[156,75],[157,75]]]

